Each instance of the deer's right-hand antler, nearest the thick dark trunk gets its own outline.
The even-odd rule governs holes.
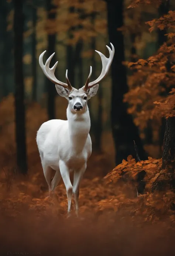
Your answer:
[[[107,49],[109,50],[109,58],[104,56],[104,54],[102,54],[102,52],[99,52],[99,51],[95,50],[100,55],[100,57],[102,59],[102,72],[101,72],[100,76],[93,82],[89,83],[89,81],[87,79],[86,84],[84,86],[84,91],[87,91],[88,89],[90,89],[91,87],[96,85],[97,83],[101,82],[106,77],[106,75],[108,74],[109,68],[110,68],[111,63],[113,61],[114,52],[115,52],[114,45],[112,43],[110,43],[110,45],[112,47],[112,50],[108,45],[106,45]],[[89,78],[89,76],[88,76],[88,78]],[[87,85],[87,82],[89,83],[88,85]]]

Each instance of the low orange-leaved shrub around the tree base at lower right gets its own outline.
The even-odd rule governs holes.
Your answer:
[[[169,219],[175,224],[175,194],[168,183],[171,173],[168,170],[161,170],[161,165],[161,159],[149,157],[148,160],[136,163],[132,156],[128,156],[127,161],[123,160],[121,164],[106,175],[105,179],[107,183],[112,182],[114,184],[116,184],[117,181],[119,182],[119,180],[123,180],[127,182],[127,184],[129,184],[128,182],[130,181],[137,191],[138,174],[145,171],[146,175],[144,181],[146,182],[146,186],[144,194],[140,195],[137,193],[137,198],[134,200],[125,198],[123,204],[130,205],[129,209],[131,215],[137,216],[142,214],[145,221],[160,221],[162,218],[169,215]],[[151,193],[152,186],[158,181],[164,184],[165,187],[162,191]],[[133,207],[134,205],[135,207]]]

